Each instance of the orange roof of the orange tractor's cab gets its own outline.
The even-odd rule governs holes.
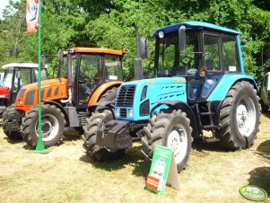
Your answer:
[[[124,56],[126,50],[115,50],[115,49],[103,49],[103,48],[74,48],[71,49],[75,53],[93,53],[93,54],[109,54],[116,56]]]

